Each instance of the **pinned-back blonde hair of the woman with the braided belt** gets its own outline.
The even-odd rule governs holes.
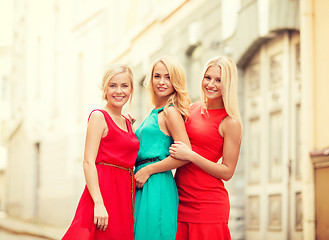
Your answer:
[[[102,86],[101,89],[103,91],[103,99],[107,101],[107,97],[106,97],[106,91],[109,85],[109,82],[111,81],[111,78],[119,73],[127,73],[129,78],[130,78],[130,84],[131,84],[131,93],[130,93],[130,103],[131,103],[131,99],[133,96],[133,92],[134,92],[134,75],[133,72],[131,71],[130,67],[128,67],[128,65],[126,64],[112,64],[107,66],[106,71],[104,73],[103,76],[103,80],[102,80]]]

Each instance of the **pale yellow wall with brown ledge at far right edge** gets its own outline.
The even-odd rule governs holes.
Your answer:
[[[301,1],[303,226],[317,240],[329,239],[328,10],[328,1]]]

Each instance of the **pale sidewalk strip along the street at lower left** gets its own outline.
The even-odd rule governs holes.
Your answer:
[[[66,228],[49,226],[42,223],[28,222],[0,214],[0,229],[16,234],[43,237],[49,240],[60,240]]]

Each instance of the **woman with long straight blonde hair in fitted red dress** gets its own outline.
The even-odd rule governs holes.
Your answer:
[[[240,152],[237,84],[237,69],[230,58],[210,59],[201,84],[202,102],[191,106],[185,123],[192,149],[181,141],[170,147],[172,157],[190,161],[175,175],[177,240],[231,239],[227,225],[230,203],[223,180],[233,176]]]

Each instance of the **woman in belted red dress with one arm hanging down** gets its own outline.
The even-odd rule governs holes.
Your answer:
[[[103,82],[103,109],[89,116],[83,169],[86,187],[63,240],[132,240],[134,175],[139,142],[122,107],[133,92],[126,65],[111,65]]]

